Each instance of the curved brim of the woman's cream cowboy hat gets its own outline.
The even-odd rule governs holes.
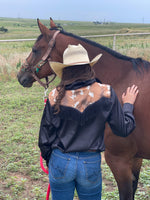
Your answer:
[[[97,61],[100,59],[102,54],[98,54],[95,58],[91,60],[91,62],[85,63],[85,62],[80,62],[80,63],[70,63],[70,64],[63,64],[60,62],[54,62],[54,61],[49,61],[49,64],[52,68],[52,70],[56,73],[57,76],[60,78],[62,77],[62,71],[65,67],[73,66],[73,65],[86,65],[89,64],[91,67],[97,63]]]

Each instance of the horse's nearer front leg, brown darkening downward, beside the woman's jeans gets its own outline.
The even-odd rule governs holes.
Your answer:
[[[105,151],[105,159],[116,179],[120,200],[134,200],[132,159],[114,156],[108,151]]]

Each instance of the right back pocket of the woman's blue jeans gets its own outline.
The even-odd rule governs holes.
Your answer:
[[[101,160],[84,161],[84,169],[87,181],[96,183],[101,180]]]

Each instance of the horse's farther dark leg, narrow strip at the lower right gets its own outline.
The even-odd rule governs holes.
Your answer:
[[[133,199],[137,189],[140,170],[142,166],[142,158],[134,158],[133,165],[132,165],[132,174],[133,174]]]

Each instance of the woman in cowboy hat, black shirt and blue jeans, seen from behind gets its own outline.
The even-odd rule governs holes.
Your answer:
[[[80,200],[100,200],[105,123],[121,137],[135,128],[133,104],[138,89],[127,88],[122,108],[113,88],[95,79],[92,66],[101,55],[89,61],[80,44],[69,45],[63,63],[50,62],[61,82],[49,94],[39,147],[49,167],[53,200],[72,200],[75,189]]]

